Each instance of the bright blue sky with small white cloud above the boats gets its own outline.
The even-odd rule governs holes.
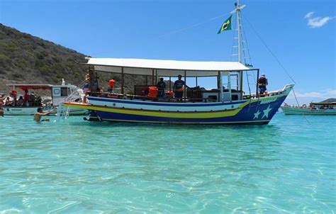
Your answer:
[[[91,57],[230,61],[234,30],[217,32],[234,2],[0,0],[0,23]],[[252,64],[267,74],[269,91],[293,79],[300,103],[336,98],[334,0],[240,4],[247,5],[242,22]],[[293,94],[287,100],[295,103]]]

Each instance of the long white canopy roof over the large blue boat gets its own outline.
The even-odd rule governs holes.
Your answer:
[[[240,62],[192,62],[177,60],[142,60],[116,58],[86,58],[86,64],[94,65],[94,69],[101,72],[149,75],[157,73],[159,77],[177,77],[179,74],[187,77],[217,76],[218,72],[248,70]]]

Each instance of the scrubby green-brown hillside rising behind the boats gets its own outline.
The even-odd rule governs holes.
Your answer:
[[[85,76],[85,55],[47,40],[0,24],[0,92],[7,92],[6,84],[80,84]],[[100,85],[107,87],[114,77],[120,87],[120,75],[100,74]],[[125,92],[133,91],[133,84],[144,84],[144,77],[125,77]]]

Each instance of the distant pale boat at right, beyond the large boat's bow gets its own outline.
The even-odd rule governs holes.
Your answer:
[[[285,115],[336,116],[336,101],[312,102],[309,106],[289,106],[285,103],[281,109]]]

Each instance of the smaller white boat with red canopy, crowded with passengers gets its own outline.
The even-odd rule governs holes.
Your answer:
[[[69,100],[69,96],[74,98],[73,94],[77,94],[77,99],[80,99],[80,94],[84,95],[82,89],[72,84],[62,84],[62,85],[52,85],[52,84],[8,84],[13,90],[11,94],[17,94],[17,89],[21,91],[36,91],[44,90],[50,91],[51,99],[49,101],[43,101],[42,99],[35,99],[33,102],[23,103],[22,105],[16,106],[2,106],[4,111],[4,116],[30,116],[34,115],[38,108],[42,108],[43,111],[55,110],[56,114],[57,107],[60,103]],[[81,108],[69,109],[69,114],[71,115],[84,115],[87,113],[86,110]]]

